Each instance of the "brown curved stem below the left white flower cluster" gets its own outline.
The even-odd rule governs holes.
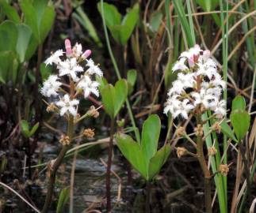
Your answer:
[[[73,137],[73,132],[74,132],[74,117],[70,115],[69,120],[68,120],[68,126],[67,126],[67,136],[69,136],[70,139],[72,139],[72,137]],[[53,166],[50,166],[50,177],[48,180],[48,190],[47,190],[47,195],[46,195],[46,198],[44,201],[44,207],[43,207],[43,210],[41,213],[47,213],[48,208],[51,205],[56,173],[57,173],[57,170],[59,169],[60,164],[63,161],[63,158],[68,150],[68,147],[69,147],[68,145],[63,146],[63,148],[59,152],[57,159],[55,159]]]

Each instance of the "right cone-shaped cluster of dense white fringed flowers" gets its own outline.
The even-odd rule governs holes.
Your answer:
[[[218,118],[226,114],[226,103],[221,99],[226,83],[209,50],[201,50],[196,44],[181,53],[172,71],[178,72],[178,78],[168,93],[165,114],[170,112],[174,118],[181,115],[185,119],[196,109],[212,110]]]

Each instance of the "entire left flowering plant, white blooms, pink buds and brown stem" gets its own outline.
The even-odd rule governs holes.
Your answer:
[[[48,191],[42,212],[48,212],[52,200],[55,175],[63,161],[71,142],[78,137],[74,135],[75,124],[88,116],[95,116],[95,109],[88,110],[85,114],[78,114],[79,98],[86,99],[90,94],[99,96],[99,83],[95,77],[102,77],[103,73],[98,65],[89,58],[91,50],[82,51],[82,45],[65,40],[66,50],[56,50],[46,61],[46,65],[55,65],[58,73],[50,75],[44,81],[40,92],[49,98],[47,111],[59,114],[67,121],[67,132],[59,138],[63,145],[59,155],[48,165]],[[65,59],[64,59],[65,58]],[[83,65],[85,63],[85,65]],[[93,111],[94,112],[93,112]]]

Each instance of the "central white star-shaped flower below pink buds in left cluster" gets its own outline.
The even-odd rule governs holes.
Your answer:
[[[67,59],[64,62],[59,62],[57,66],[59,69],[59,76],[69,75],[73,80],[78,81],[76,73],[83,72],[81,65],[78,65],[76,58]]]

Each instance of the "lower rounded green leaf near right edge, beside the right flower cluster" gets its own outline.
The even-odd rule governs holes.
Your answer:
[[[250,127],[250,115],[245,110],[235,110],[231,113],[230,118],[235,135],[240,142]]]

